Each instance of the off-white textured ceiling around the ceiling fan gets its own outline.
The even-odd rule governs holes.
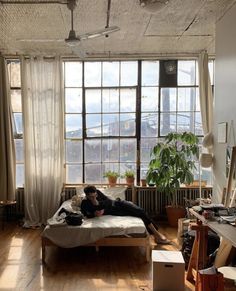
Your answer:
[[[77,53],[77,48],[68,47],[64,41],[19,41],[67,38],[70,11],[66,0],[45,0],[57,2],[53,4],[16,2],[27,0],[0,0],[2,54],[69,56]],[[109,25],[119,26],[120,31],[109,37],[84,40],[81,45],[88,57],[186,56],[201,50],[214,54],[216,22],[235,3],[236,0],[169,0],[162,10],[151,14],[139,5],[139,0],[111,0]],[[103,29],[107,22],[107,6],[108,0],[78,0],[74,12],[76,33]]]

